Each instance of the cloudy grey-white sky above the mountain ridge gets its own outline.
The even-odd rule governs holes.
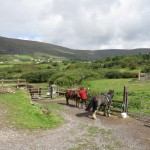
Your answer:
[[[150,0],[0,0],[0,36],[80,50],[150,48]]]

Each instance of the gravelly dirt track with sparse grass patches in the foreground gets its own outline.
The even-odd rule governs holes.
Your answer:
[[[65,101],[55,101],[65,107],[57,110],[67,121],[53,130],[14,130],[5,127],[5,113],[0,110],[0,150],[148,150],[150,126],[133,118],[91,114]]]

